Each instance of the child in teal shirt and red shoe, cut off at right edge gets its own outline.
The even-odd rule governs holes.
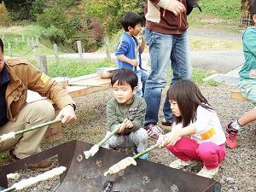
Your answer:
[[[242,96],[245,96],[247,100],[251,101],[253,105],[256,105],[256,0],[253,0],[251,6],[251,15],[254,26],[248,27],[242,35],[243,53],[245,62],[241,67],[239,87]],[[256,108],[241,116],[240,119],[236,119],[231,122],[227,131],[227,146],[229,148],[237,147],[237,133],[242,126],[252,122],[256,119]]]

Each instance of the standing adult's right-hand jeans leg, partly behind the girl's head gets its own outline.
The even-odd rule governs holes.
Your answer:
[[[180,79],[190,79],[191,78],[191,59],[190,59],[190,48],[189,48],[189,38],[188,32],[184,32],[182,35],[173,36],[172,41],[172,84]],[[163,112],[166,122],[173,122],[173,114],[170,106],[169,98],[166,96],[166,101],[164,104]]]

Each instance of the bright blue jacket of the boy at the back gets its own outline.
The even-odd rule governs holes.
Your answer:
[[[131,60],[137,59],[136,56],[136,50],[138,46],[138,41],[137,38],[134,36],[130,36],[127,32],[124,32],[120,38],[119,44],[117,45],[117,48],[115,50],[115,55],[125,55]],[[139,51],[138,51],[139,52]],[[139,67],[142,67],[142,62],[141,62],[141,54],[138,53],[138,61],[139,61]],[[124,61],[119,61],[118,59],[118,67],[119,68],[130,68],[133,69],[133,66],[130,63],[124,62]],[[136,70],[137,67],[135,67]]]

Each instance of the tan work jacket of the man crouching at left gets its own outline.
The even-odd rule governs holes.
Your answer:
[[[55,103],[58,108],[74,105],[67,91],[56,84],[42,71],[32,66],[28,61],[11,59],[5,61],[9,73],[9,84],[5,92],[7,104],[7,118],[11,121],[17,119],[20,109],[26,105],[27,90],[38,92]]]

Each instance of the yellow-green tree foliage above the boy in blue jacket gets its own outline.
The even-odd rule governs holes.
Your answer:
[[[99,20],[105,34],[113,35],[120,28],[120,20],[125,12],[143,14],[144,1],[140,0],[87,0],[84,3],[85,15]]]

